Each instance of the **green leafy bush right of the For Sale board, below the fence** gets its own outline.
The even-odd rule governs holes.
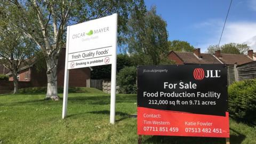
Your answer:
[[[256,79],[236,82],[228,87],[230,116],[256,122]]]

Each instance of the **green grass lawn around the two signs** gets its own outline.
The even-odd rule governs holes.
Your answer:
[[[35,91],[0,95],[0,143],[138,143],[137,96],[117,94],[116,124],[109,124],[110,95],[95,89],[69,93],[68,117],[62,99],[46,101]],[[30,93],[30,94],[28,94]],[[34,94],[31,94],[34,93]],[[60,94],[62,98],[62,94]],[[226,143],[223,138],[147,135],[142,143]],[[256,127],[230,119],[230,143],[256,143]]]

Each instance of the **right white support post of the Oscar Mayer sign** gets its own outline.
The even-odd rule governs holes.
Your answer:
[[[117,14],[113,14],[117,20]],[[117,28],[117,22],[115,23]],[[117,31],[115,31],[115,43],[113,45],[113,62],[111,65],[111,98],[110,98],[110,124],[115,124],[115,105],[116,105],[116,43],[117,43]]]

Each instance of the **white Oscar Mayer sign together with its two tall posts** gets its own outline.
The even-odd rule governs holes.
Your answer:
[[[69,69],[111,64],[110,123],[115,123],[117,14],[68,26],[62,118],[67,116]]]

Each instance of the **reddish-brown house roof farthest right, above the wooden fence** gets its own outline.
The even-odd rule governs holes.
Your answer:
[[[237,63],[237,65],[242,65],[244,63],[253,61],[247,55],[244,55],[244,54],[221,53],[221,57],[218,59],[227,65],[234,65],[235,63]]]

